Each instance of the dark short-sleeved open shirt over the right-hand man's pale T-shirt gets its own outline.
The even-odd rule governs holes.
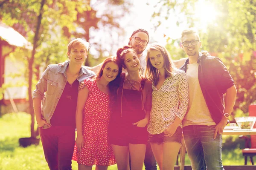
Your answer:
[[[189,59],[180,67],[186,72]],[[199,54],[198,81],[213,121],[218,124],[224,111],[224,94],[234,85],[227,67],[220,58]]]

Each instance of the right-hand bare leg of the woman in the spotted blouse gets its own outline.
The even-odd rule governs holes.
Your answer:
[[[163,170],[174,170],[177,155],[180,150],[180,143],[163,143]]]

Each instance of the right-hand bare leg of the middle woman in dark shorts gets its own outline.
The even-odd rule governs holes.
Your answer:
[[[129,144],[131,155],[131,170],[142,170],[145,159],[145,144]]]

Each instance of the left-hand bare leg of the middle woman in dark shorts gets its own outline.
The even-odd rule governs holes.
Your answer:
[[[130,170],[128,146],[111,144],[118,170]]]

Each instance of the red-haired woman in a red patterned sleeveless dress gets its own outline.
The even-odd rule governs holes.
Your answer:
[[[84,81],[78,93],[76,107],[77,138],[73,160],[79,170],[107,170],[116,164],[111,145],[108,143],[109,103],[120,82],[122,64],[119,58],[105,59],[95,79]]]

